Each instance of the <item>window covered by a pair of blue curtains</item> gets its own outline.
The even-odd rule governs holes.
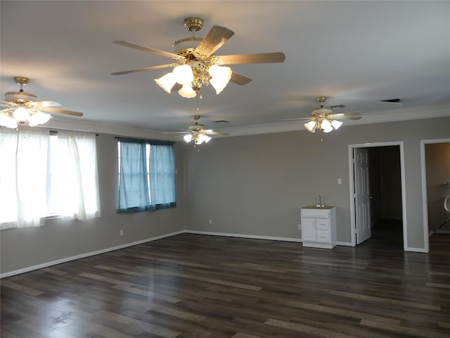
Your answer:
[[[121,138],[118,213],[176,206],[173,142]]]

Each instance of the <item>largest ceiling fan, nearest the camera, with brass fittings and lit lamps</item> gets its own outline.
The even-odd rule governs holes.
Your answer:
[[[189,32],[193,32],[194,35],[194,32],[202,29],[203,19],[196,17],[186,18],[184,20],[184,26]],[[174,53],[160,51],[122,40],[115,41],[114,43],[120,46],[172,58],[174,62],[111,74],[123,75],[146,70],[174,68],[171,73],[155,79],[155,82],[168,93],[178,90],[181,96],[191,98],[197,95],[203,85],[207,86],[208,84],[212,84],[212,87],[216,90],[216,94],[220,94],[229,81],[240,85],[248,84],[248,82],[252,81],[250,77],[233,72],[231,68],[224,67],[224,65],[280,63],[285,60],[285,54],[282,52],[217,56],[215,52],[233,35],[234,32],[228,28],[214,25],[203,39],[192,36],[174,42]]]

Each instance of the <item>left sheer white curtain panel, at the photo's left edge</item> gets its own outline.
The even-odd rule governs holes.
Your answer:
[[[0,129],[0,228],[39,226],[46,210],[49,131]]]

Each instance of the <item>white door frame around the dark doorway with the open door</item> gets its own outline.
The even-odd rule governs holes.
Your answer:
[[[400,148],[400,177],[401,177],[401,221],[403,223],[403,249],[408,250],[408,227],[406,221],[406,181],[405,181],[405,158],[404,142],[376,142],[349,144],[349,198],[350,198],[350,235],[352,237],[352,246],[356,246],[356,228],[355,228],[355,206],[354,206],[354,172],[353,172],[353,149],[355,148],[373,148],[375,146],[399,146]],[[371,173],[369,173],[371,175]]]

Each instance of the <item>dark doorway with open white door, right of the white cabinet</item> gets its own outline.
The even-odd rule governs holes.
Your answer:
[[[374,229],[398,225],[399,247],[407,248],[403,142],[349,145],[349,192],[352,246],[371,238]],[[397,186],[398,189],[392,187]],[[393,220],[397,220],[393,222]],[[380,232],[376,232],[379,234]],[[395,236],[390,232],[383,235]],[[391,241],[392,242],[392,241]]]

